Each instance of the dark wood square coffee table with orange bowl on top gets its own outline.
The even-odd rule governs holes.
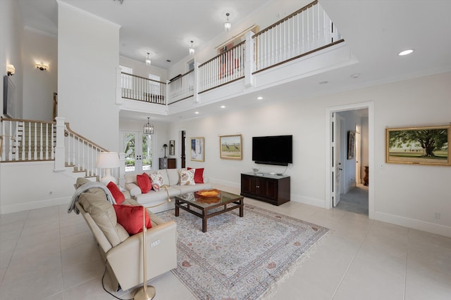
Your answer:
[[[179,216],[180,209],[194,214],[202,219],[202,232],[206,233],[206,220],[226,211],[240,209],[240,216],[244,215],[244,198],[240,195],[218,191],[216,197],[199,197],[197,193],[186,193],[175,196],[175,216]],[[222,209],[217,209],[222,208]],[[214,211],[211,211],[214,209]]]

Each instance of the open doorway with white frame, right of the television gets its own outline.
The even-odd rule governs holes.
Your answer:
[[[358,117],[359,114],[366,114]],[[340,119],[337,122],[337,119]],[[344,120],[344,121],[342,121]],[[373,103],[358,103],[326,109],[326,205],[347,211],[367,214],[374,218],[373,172]],[[340,124],[344,122],[344,126]],[[350,131],[356,148],[348,156]],[[354,135],[354,133],[356,133]],[[344,148],[345,146],[345,148]],[[343,158],[343,156],[345,158]],[[362,184],[362,168],[369,168],[369,185]],[[357,209],[359,202],[366,211]]]

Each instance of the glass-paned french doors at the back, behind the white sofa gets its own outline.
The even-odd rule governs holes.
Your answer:
[[[152,136],[139,131],[123,132],[125,172],[152,170]]]

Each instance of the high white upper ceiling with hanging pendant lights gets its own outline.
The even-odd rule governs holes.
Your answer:
[[[18,1],[26,26],[57,35],[56,0]],[[226,13],[230,13],[230,22],[236,23],[268,1],[124,0],[120,4],[113,0],[62,0],[121,25],[121,56],[144,61],[149,52],[152,65],[163,69],[187,56],[190,41],[199,46],[222,34]],[[304,3],[305,0],[297,2]],[[171,60],[171,63],[166,60]]]

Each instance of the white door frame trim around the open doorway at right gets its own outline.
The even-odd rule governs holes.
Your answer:
[[[363,102],[354,103],[349,105],[331,106],[326,107],[326,198],[324,200],[324,207],[326,209],[331,209],[333,207],[332,200],[332,172],[330,171],[331,157],[332,153],[332,133],[331,126],[332,123],[332,113],[342,112],[346,110],[360,110],[368,109],[368,165],[369,165],[369,187],[368,187],[368,217],[369,219],[374,219],[374,103]]]

